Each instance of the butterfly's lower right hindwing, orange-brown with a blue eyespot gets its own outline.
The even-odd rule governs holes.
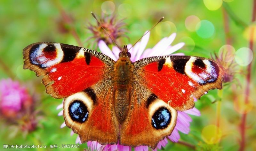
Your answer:
[[[154,149],[160,140],[171,135],[177,111],[136,79],[131,93],[132,107],[120,133],[120,143],[132,147],[146,145]]]

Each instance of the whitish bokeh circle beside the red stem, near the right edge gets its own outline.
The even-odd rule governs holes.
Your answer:
[[[252,58],[253,58],[252,50],[247,47],[240,48],[236,51],[235,61],[237,64],[241,66],[246,66],[250,64],[252,62]]]

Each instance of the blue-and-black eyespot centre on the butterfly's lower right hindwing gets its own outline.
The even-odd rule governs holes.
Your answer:
[[[151,124],[156,129],[164,129],[170,124],[171,117],[170,111],[166,107],[161,107],[152,116]]]

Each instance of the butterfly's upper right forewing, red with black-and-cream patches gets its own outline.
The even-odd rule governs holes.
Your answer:
[[[194,98],[200,98],[210,89],[221,89],[223,67],[217,62],[192,56],[148,57],[133,63],[141,83],[180,111],[194,107]]]

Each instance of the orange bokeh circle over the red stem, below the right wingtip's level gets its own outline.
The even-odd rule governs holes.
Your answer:
[[[252,100],[249,97],[249,101],[247,103],[244,102],[244,95],[237,95],[235,100],[234,100],[234,109],[240,113],[240,114],[244,114],[244,113],[248,113],[252,110],[253,108],[253,104],[252,104]]]

